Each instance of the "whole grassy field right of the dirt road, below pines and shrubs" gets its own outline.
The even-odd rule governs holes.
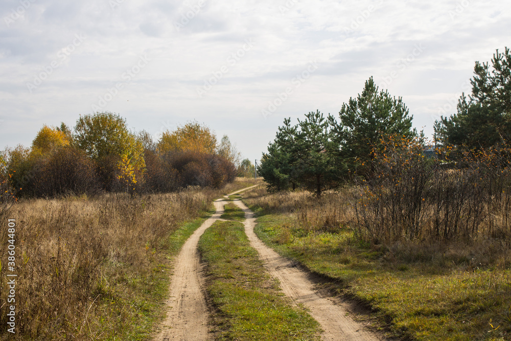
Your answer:
[[[511,335],[511,252],[501,239],[451,243],[357,238],[350,190],[244,195],[255,232],[278,253],[369,308],[392,337],[505,340]],[[364,317],[367,319],[367,316]]]

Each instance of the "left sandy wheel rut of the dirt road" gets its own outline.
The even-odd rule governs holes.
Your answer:
[[[245,191],[254,186],[229,193]],[[199,341],[208,338],[208,312],[204,294],[201,290],[200,263],[197,244],[200,236],[220,218],[224,211],[223,199],[215,200],[216,212],[202,223],[184,243],[174,261],[170,283],[170,297],[167,301],[167,318],[162,330],[154,341]]]

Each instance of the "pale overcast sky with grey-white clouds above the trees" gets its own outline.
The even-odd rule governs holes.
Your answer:
[[[156,138],[195,119],[259,159],[284,118],[337,115],[371,76],[431,134],[505,46],[508,0],[2,0],[0,147],[111,111]]]

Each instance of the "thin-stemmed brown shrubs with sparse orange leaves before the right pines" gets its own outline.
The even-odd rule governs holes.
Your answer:
[[[374,149],[376,170],[356,178],[356,231],[371,243],[474,240],[511,235],[511,147],[437,148],[391,135]],[[456,155],[456,161],[451,156]]]

